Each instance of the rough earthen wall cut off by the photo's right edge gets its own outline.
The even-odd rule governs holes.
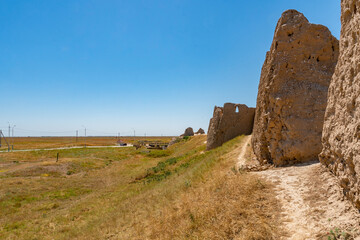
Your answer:
[[[329,87],[320,161],[360,208],[360,1],[341,1],[340,56]]]

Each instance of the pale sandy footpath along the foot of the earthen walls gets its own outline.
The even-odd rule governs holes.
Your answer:
[[[250,136],[239,154],[239,166],[246,164],[244,156],[249,141]],[[282,206],[281,229],[284,235],[280,239],[327,239],[330,230],[335,232],[335,229],[360,239],[359,211],[344,198],[335,176],[320,163],[269,169],[253,174],[260,175],[276,186],[274,194]]]

